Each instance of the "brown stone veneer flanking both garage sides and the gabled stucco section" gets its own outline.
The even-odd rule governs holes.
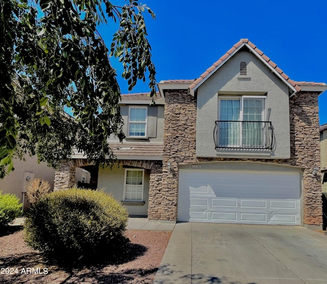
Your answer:
[[[188,95],[186,90],[166,92],[162,188],[152,191],[149,195],[148,218],[177,220],[179,165],[208,161],[256,161],[288,164],[303,168],[303,223],[307,225],[321,225],[320,173],[316,176],[312,174],[314,167],[320,167],[317,97],[317,93],[300,92],[290,98],[290,159],[197,159],[196,100],[191,95]],[[168,169],[168,164],[171,165],[171,170]]]

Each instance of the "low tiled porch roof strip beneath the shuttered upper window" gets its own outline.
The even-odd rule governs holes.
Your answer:
[[[109,142],[114,155],[119,159],[122,156],[147,156],[162,158],[164,143],[137,143],[137,142]],[[160,159],[158,159],[160,160]]]

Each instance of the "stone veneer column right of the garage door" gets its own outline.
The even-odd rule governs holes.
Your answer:
[[[321,228],[321,175],[318,93],[299,92],[290,99],[292,165],[303,168],[303,225]]]

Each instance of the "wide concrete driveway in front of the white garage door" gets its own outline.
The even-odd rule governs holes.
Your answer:
[[[327,284],[327,236],[299,226],[177,223],[156,284]]]

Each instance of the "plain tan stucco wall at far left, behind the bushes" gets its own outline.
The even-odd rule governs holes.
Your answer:
[[[55,170],[46,163],[37,163],[36,157],[25,156],[26,161],[14,160],[15,170],[0,179],[0,190],[3,193],[13,193],[22,201],[22,189],[26,185],[24,172],[34,173],[34,178],[46,180],[53,189]]]

